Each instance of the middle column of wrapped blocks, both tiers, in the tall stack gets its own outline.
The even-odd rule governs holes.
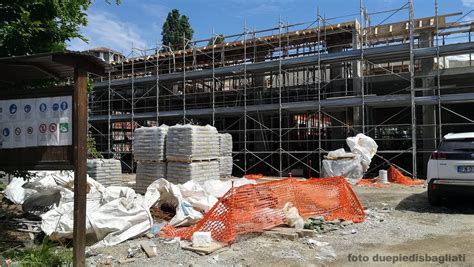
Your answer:
[[[215,127],[175,125],[166,141],[166,179],[175,184],[189,180],[219,179],[219,134]]]

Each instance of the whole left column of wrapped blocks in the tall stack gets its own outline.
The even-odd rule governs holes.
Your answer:
[[[168,126],[141,127],[135,130],[133,156],[137,160],[135,191],[144,194],[148,186],[166,178],[166,136]]]

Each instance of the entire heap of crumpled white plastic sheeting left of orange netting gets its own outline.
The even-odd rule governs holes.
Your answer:
[[[92,187],[100,188],[87,194],[86,235],[89,243],[95,243],[93,247],[113,246],[150,231],[150,208],[155,205],[175,206],[176,216],[170,224],[185,226],[202,219],[201,211],[208,211],[217,202],[193,181],[174,185],[159,179],[148,187],[145,196],[128,187]],[[50,239],[72,238],[73,201],[72,193],[42,215],[41,229]]]

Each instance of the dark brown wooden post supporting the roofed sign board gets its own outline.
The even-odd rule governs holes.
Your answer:
[[[80,64],[74,69],[74,266],[85,266],[87,194],[87,71]]]

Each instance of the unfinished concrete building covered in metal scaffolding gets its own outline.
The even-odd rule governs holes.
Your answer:
[[[465,15],[415,18],[397,10],[210,40],[133,49],[95,77],[90,133],[105,157],[133,172],[133,130],[210,124],[234,139],[234,175],[317,177],[327,151],[365,133],[378,144],[367,175],[395,164],[423,178],[444,134],[473,131],[472,26]],[[405,21],[387,22],[376,16]],[[341,22],[339,22],[341,21]],[[344,22],[346,21],[346,22]],[[471,108],[470,108],[471,107]]]

